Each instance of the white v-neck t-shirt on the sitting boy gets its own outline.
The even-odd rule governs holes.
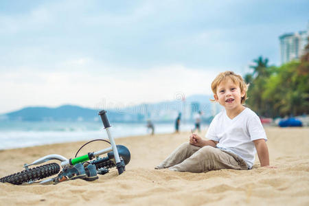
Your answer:
[[[225,110],[221,111],[212,120],[205,137],[218,141],[217,148],[240,156],[249,168],[252,168],[256,153],[253,140],[267,141],[260,118],[250,108],[245,108],[233,119]]]

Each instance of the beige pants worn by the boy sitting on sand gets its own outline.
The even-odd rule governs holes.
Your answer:
[[[247,163],[238,155],[212,146],[203,148],[184,143],[155,169],[169,168],[178,172],[208,172],[210,170],[248,170]]]

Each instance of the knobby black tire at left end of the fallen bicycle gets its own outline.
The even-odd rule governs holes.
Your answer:
[[[49,163],[46,165],[38,166],[36,168],[29,168],[21,172],[16,172],[14,174],[4,176],[0,179],[0,182],[21,185],[22,183],[37,181],[47,176],[58,174],[59,171],[60,166],[57,163]]]

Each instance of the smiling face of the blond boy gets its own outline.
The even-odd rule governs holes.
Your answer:
[[[244,91],[240,91],[239,85],[235,84],[231,78],[227,78],[218,85],[214,99],[226,110],[232,110],[242,106],[241,98],[243,96]]]

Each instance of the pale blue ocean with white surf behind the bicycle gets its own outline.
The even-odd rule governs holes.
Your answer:
[[[181,124],[180,130],[191,128]],[[115,139],[150,134],[146,124],[111,123],[110,131]],[[174,133],[174,124],[155,124],[155,133]],[[0,150],[91,139],[108,139],[102,122],[0,122]]]

